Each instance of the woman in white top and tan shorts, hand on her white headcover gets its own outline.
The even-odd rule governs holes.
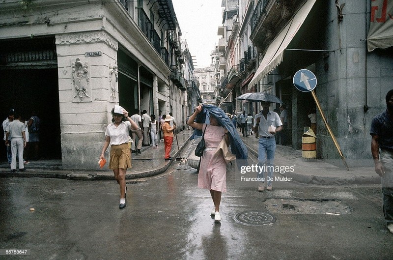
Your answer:
[[[113,170],[114,178],[120,185],[120,205],[119,208],[126,206],[126,171],[131,168],[131,152],[128,147],[128,135],[131,129],[138,129],[138,124],[123,110],[123,114],[114,113],[112,109],[112,124],[107,126],[105,131],[105,142],[102,148],[100,159],[105,159],[104,153],[111,145],[111,160],[109,169]],[[127,120],[126,120],[127,119]]]

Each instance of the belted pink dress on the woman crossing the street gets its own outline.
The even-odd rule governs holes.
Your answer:
[[[202,131],[205,125],[203,124]],[[206,148],[217,148],[224,135],[224,127],[208,124],[204,135]],[[203,152],[198,174],[198,188],[225,192],[226,162],[222,150],[215,153],[216,149]]]

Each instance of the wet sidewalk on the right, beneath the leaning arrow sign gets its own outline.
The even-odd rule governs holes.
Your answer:
[[[248,147],[249,156],[253,154],[258,157],[258,140],[255,139],[255,136],[241,137],[241,139]],[[347,171],[341,160],[332,161],[339,167],[324,160],[303,159],[301,150],[277,144],[274,164],[293,166],[294,172],[285,172],[281,175],[291,177],[292,180],[300,183],[318,185],[381,184],[381,179],[375,173],[374,167],[349,167],[349,171]]]

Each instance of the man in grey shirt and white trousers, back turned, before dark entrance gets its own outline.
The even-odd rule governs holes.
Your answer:
[[[16,172],[16,155],[18,154],[19,161],[19,171],[25,171],[25,166],[23,165],[23,149],[26,147],[26,127],[23,122],[20,121],[21,115],[15,114],[14,120],[9,123],[6,131],[5,144],[8,145],[8,138],[11,138],[11,172]]]

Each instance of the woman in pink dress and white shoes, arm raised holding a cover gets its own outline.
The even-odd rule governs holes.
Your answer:
[[[221,193],[226,192],[226,162],[222,150],[217,152],[217,147],[223,138],[225,138],[226,145],[229,146],[228,130],[220,126],[214,116],[209,117],[210,124],[194,122],[201,111],[202,106],[197,106],[187,124],[205,133],[206,149],[200,161],[198,187],[210,190],[214,203],[214,209],[211,211],[211,215],[214,215],[215,222],[220,222]]]

